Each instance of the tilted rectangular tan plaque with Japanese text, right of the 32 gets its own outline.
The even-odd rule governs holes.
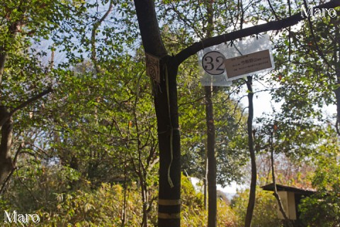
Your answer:
[[[261,70],[271,69],[271,54],[269,50],[261,50],[250,54],[232,57],[225,60],[228,79],[251,74]]]

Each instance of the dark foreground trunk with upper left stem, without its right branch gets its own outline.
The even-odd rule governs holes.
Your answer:
[[[160,60],[160,82],[154,84],[159,140],[158,226],[181,225],[181,149],[176,75],[179,63],[167,55],[152,0],[135,0],[145,52]],[[155,82],[156,83],[156,82]]]

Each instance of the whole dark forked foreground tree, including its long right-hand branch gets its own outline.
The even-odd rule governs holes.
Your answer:
[[[180,162],[180,138],[179,130],[179,114],[177,106],[177,85],[176,75],[179,65],[184,60],[188,59],[196,52],[204,48],[225,43],[227,41],[235,40],[237,38],[244,38],[249,35],[255,35],[266,31],[278,31],[283,28],[288,28],[297,24],[299,21],[305,20],[300,13],[297,13],[280,21],[271,21],[259,26],[244,28],[232,33],[217,35],[212,38],[207,38],[197,43],[193,43],[188,48],[181,50],[174,57],[167,55],[162,37],[159,31],[159,25],[152,0],[134,0],[135,9],[137,13],[137,20],[140,27],[142,43],[145,52],[152,54],[159,59],[162,59],[161,67],[161,82],[155,84],[154,103],[157,115],[157,127],[159,131],[159,226],[180,226],[180,194],[181,194],[181,162]],[[315,6],[314,9],[334,9],[340,6],[339,0],[332,0],[326,4]],[[164,61],[165,60],[165,61]],[[165,70],[164,70],[165,69]],[[169,83],[166,86],[166,77]],[[166,96],[166,91],[169,96]],[[169,98],[169,99],[168,99]],[[168,102],[169,100],[169,102]],[[170,113],[170,116],[169,116]],[[170,128],[170,130],[169,130]],[[167,131],[168,133],[163,133]],[[169,131],[171,133],[169,133]],[[170,153],[170,141],[172,138],[172,162]],[[171,165],[169,165],[171,163]],[[170,167],[170,168],[169,168]],[[168,180],[171,178],[174,187],[171,187]],[[178,212],[178,213],[177,213]]]

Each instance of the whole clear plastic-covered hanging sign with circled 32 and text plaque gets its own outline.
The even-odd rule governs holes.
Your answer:
[[[215,45],[198,52],[203,86],[231,86],[232,81],[273,70],[274,60],[268,35]]]

